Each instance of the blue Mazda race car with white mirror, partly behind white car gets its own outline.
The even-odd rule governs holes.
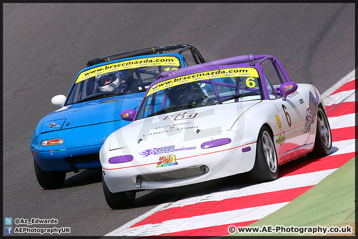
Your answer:
[[[177,49],[178,53],[164,53]],[[136,109],[158,74],[188,66],[183,57],[187,50],[195,64],[205,62],[200,52],[187,44],[89,61],[68,96],[52,98],[52,104],[62,108],[42,118],[32,133],[30,149],[40,186],[59,187],[67,172],[100,168],[99,150],[104,140],[129,123],[121,119],[121,111]]]

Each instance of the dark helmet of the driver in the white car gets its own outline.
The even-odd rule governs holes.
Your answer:
[[[165,89],[164,94],[168,97],[171,105],[181,106],[189,104],[194,96],[194,91],[191,83],[186,83]]]

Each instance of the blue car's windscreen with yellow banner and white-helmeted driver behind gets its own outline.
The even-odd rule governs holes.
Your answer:
[[[179,57],[165,54],[142,56],[85,69],[76,78],[65,106],[98,96],[110,97],[146,91],[158,74],[182,67]]]

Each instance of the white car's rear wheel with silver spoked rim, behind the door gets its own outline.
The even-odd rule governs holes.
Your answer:
[[[313,150],[307,156],[323,157],[330,154],[332,151],[332,134],[331,128],[327,119],[326,113],[323,111],[321,105],[317,110],[317,129],[316,138]]]

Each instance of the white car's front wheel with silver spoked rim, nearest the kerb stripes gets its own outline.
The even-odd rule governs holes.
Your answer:
[[[272,134],[267,126],[260,130],[254,168],[249,172],[255,182],[268,182],[277,178],[278,161]]]

